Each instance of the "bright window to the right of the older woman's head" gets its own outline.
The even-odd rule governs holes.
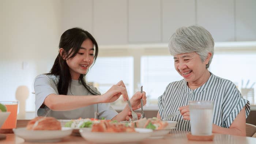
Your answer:
[[[256,52],[215,53],[209,67],[214,75],[234,82],[251,104],[256,101],[254,93],[256,86],[255,84],[253,86],[253,83],[256,82],[255,56]],[[248,90],[249,88],[251,89]]]

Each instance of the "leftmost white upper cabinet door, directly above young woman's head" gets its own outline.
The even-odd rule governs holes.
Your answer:
[[[62,4],[61,30],[81,27],[91,33],[92,0],[63,0]]]

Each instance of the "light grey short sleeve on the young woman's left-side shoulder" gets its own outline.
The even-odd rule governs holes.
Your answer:
[[[46,106],[42,108],[40,107],[44,103],[46,96],[50,94],[57,94],[57,91],[52,87],[53,84],[53,80],[49,79],[46,75],[39,75],[35,78],[35,111],[38,116],[44,116],[50,111]]]

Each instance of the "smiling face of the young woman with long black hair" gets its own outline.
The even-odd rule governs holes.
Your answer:
[[[93,64],[93,61],[94,45],[93,42],[87,38],[83,41],[78,53],[76,53],[74,57],[67,58],[66,60],[71,74],[71,79],[78,80],[80,74],[86,74],[88,68]]]

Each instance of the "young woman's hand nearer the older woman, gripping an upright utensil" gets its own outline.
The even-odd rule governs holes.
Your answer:
[[[143,100],[143,106],[147,103],[147,97],[146,92],[143,91],[143,93],[136,92],[132,98],[130,99],[132,110],[137,110],[140,108],[140,99]]]

